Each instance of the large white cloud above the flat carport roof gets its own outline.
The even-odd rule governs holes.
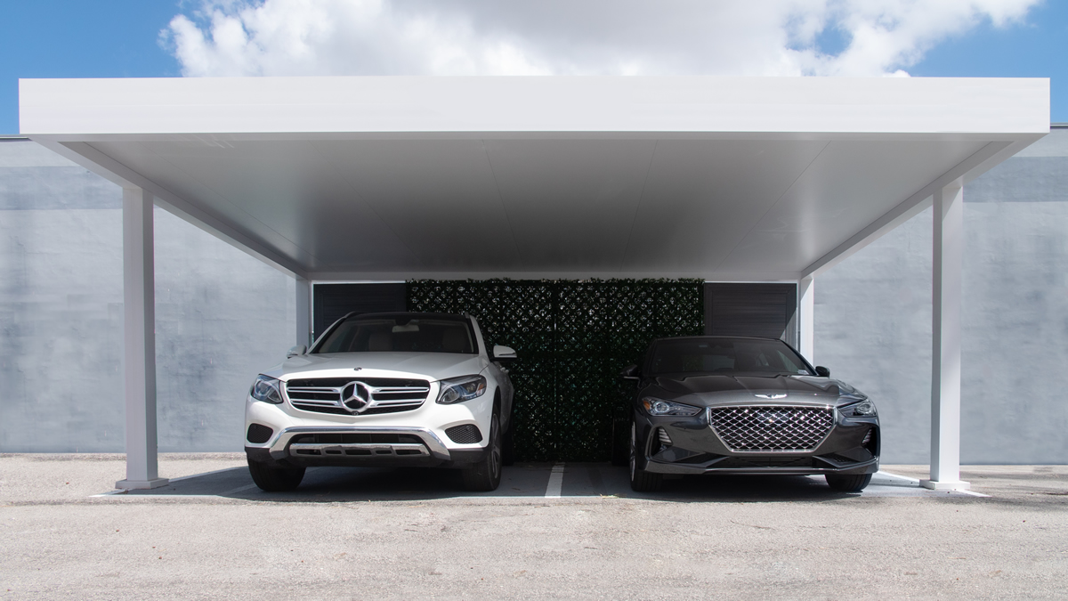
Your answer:
[[[187,76],[907,75],[1041,0],[203,0]]]

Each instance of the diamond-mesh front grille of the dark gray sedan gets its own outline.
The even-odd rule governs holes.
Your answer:
[[[733,451],[812,450],[834,427],[834,413],[829,407],[713,407],[709,419]]]

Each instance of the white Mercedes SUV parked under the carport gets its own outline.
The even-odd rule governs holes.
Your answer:
[[[249,471],[289,491],[304,468],[440,466],[492,491],[512,456],[507,346],[444,313],[348,314],[310,351],[295,346],[256,377],[245,405]]]

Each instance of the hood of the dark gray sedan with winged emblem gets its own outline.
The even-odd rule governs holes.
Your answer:
[[[709,406],[739,402],[826,404],[837,402],[841,395],[858,392],[852,386],[830,377],[717,373],[686,377],[659,376],[646,388],[645,394],[659,394],[669,400]]]

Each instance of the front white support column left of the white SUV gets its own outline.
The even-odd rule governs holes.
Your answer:
[[[126,394],[126,479],[116,489],[168,483],[156,461],[156,277],[152,195],[123,189],[123,372]]]

